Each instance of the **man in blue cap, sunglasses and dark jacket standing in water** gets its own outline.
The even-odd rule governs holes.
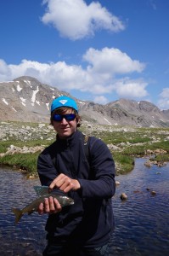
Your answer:
[[[45,199],[38,212],[49,213],[46,224],[48,245],[43,256],[109,255],[114,230],[112,196],[115,194],[115,164],[109,148],[99,138],[89,137],[89,160],[85,155],[76,102],[59,96],[51,105],[51,125],[56,141],[37,160],[42,185],[70,196],[74,205],[61,207]]]

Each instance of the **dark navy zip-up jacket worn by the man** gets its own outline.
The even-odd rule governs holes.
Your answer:
[[[78,179],[81,189],[68,196],[75,204],[48,217],[48,240],[70,241],[85,247],[99,247],[114,230],[111,197],[115,194],[115,164],[109,148],[99,138],[89,138],[90,165],[84,153],[82,132],[45,148],[37,160],[42,185],[49,185],[59,173]]]

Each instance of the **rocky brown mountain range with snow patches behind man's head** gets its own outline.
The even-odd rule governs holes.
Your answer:
[[[28,76],[0,83],[0,90],[0,121],[49,123],[52,100],[70,96]],[[169,127],[169,110],[161,111],[150,102],[120,99],[101,105],[71,97],[77,102],[82,120],[90,124]]]

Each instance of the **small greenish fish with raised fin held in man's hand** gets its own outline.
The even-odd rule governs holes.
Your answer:
[[[49,196],[56,198],[59,201],[61,207],[71,206],[74,204],[74,200],[67,195],[60,195],[55,190],[49,192],[48,186],[34,186],[34,189],[38,196],[34,201],[31,201],[30,204],[21,210],[19,208],[12,208],[12,212],[15,215],[15,224],[18,224],[20,218],[22,218],[25,213],[31,215],[31,213],[37,212],[40,203],[44,202],[44,199],[48,198]]]

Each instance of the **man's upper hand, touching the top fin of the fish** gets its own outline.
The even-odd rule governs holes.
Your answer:
[[[54,181],[50,184],[49,189],[59,188],[65,193],[70,190],[77,190],[81,188],[80,183],[76,179],[72,179],[63,173],[60,173],[58,177],[54,178]]]

